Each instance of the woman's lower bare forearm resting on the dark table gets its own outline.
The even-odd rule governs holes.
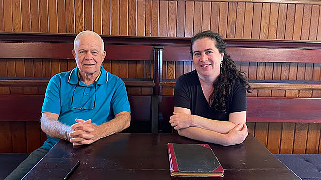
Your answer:
[[[178,130],[178,133],[181,136],[188,137],[194,140],[210,142],[224,146],[230,145],[229,139],[226,134],[202,129],[199,127],[188,127],[180,129]]]

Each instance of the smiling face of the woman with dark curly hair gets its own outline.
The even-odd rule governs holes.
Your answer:
[[[215,80],[221,72],[220,63],[224,53],[219,53],[215,47],[215,40],[209,38],[198,39],[192,45],[193,63],[198,75]]]

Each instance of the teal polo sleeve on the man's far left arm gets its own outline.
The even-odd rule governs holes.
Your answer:
[[[41,112],[51,112],[60,115],[60,82],[59,76],[53,76],[46,89],[44,103]]]

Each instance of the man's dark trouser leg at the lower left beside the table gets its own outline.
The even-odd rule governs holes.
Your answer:
[[[22,179],[48,152],[49,150],[38,148],[22,161],[18,167],[12,171],[5,180],[20,180]]]

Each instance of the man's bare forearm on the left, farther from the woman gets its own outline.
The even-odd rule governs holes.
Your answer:
[[[69,127],[68,125],[60,123],[57,119],[46,113],[43,113],[40,120],[43,132],[53,138],[65,139],[65,131]]]

